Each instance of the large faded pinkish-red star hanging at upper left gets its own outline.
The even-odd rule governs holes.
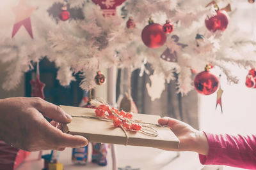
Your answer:
[[[26,31],[28,31],[29,36],[31,36],[31,38],[33,39],[30,16],[34,10],[36,10],[36,8],[33,6],[28,6],[26,0],[20,0],[17,6],[13,6],[13,13],[15,14],[15,24],[13,25],[12,38],[23,25]]]

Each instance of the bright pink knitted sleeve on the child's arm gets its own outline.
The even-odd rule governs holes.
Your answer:
[[[199,154],[201,164],[256,169],[255,135],[205,134],[209,141],[209,153],[207,156]]]

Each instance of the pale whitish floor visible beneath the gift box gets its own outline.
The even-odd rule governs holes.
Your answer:
[[[115,145],[118,155],[118,170],[199,170],[202,165],[198,160],[198,155],[193,152],[181,152],[177,157],[177,152],[168,152],[156,148],[137,147],[137,146],[122,146]],[[85,166],[76,166],[71,160],[71,149],[67,148],[60,154],[60,162],[63,163],[65,170],[110,170],[112,169],[111,152],[108,153],[108,166],[100,167],[97,164],[88,162]],[[48,152],[44,152],[49,153]],[[17,170],[38,170],[42,169],[44,161],[38,160],[38,152],[31,153],[28,159],[22,163]]]

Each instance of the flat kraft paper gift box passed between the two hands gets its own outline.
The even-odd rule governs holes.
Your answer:
[[[154,148],[178,148],[179,139],[173,134],[169,127],[153,125],[158,136],[148,136],[142,132],[133,132],[120,127],[114,127],[113,122],[99,120],[96,117],[95,109],[77,108],[72,106],[61,106],[61,108],[73,117],[70,124],[63,125],[63,132],[73,135],[81,135],[90,142],[111,143],[119,145],[149,146]],[[132,119],[141,120],[150,124],[157,124],[159,116],[134,113]],[[141,124],[142,125],[142,124]]]

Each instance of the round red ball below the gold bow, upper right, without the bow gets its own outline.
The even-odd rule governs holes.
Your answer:
[[[228,15],[226,11],[217,11],[217,15],[205,19],[205,25],[211,32],[215,32],[217,30],[225,31],[228,27]]]

